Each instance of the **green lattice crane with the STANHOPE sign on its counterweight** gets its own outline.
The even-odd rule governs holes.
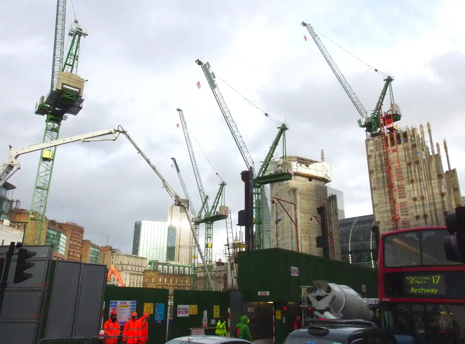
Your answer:
[[[74,19],[68,33],[71,36],[69,49],[63,62],[65,17],[66,0],[57,0],[50,92],[46,97],[40,97],[35,107],[37,115],[45,116],[43,142],[58,139],[62,121],[70,114],[77,115],[84,101],[85,80],[77,75],[77,69],[80,47],[87,32],[86,28]],[[40,152],[29,220],[23,240],[26,244],[37,245],[41,242],[55,154],[56,146]],[[40,228],[39,231],[33,231],[33,233],[39,233],[39,236],[29,235],[32,227]]]

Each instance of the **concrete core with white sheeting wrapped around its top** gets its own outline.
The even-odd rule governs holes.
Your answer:
[[[338,200],[336,195],[328,197],[326,186],[331,167],[300,156],[286,160],[292,165],[292,180],[270,184],[271,247],[341,260]],[[270,169],[279,163],[272,160]]]

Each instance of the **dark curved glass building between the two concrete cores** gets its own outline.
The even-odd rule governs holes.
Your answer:
[[[373,221],[373,215],[339,220],[342,261],[372,268],[378,266]]]

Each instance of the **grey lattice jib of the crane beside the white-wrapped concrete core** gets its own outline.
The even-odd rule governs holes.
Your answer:
[[[218,85],[215,82],[215,74],[210,70],[210,64],[208,62],[203,63],[199,59],[197,59],[195,63],[202,68],[202,71],[205,74],[208,84],[210,85],[213,95],[215,96],[216,102],[218,103],[219,109],[221,110],[223,117],[225,117],[226,124],[228,125],[231,134],[233,134],[234,142],[236,143],[237,148],[239,148],[239,152],[242,156],[242,159],[244,159],[244,162],[246,163],[247,169],[252,167],[252,169],[254,170],[252,156],[250,155],[246,147],[246,144],[244,143],[244,140],[242,139],[242,136],[239,133],[239,129],[237,128],[237,125],[234,122],[234,119],[231,116],[228,107],[226,106],[226,102],[223,99],[221,92],[219,91]]]

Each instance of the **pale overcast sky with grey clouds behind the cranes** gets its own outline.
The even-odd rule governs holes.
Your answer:
[[[170,158],[177,159],[199,209],[186,143],[176,128],[180,107],[196,139],[191,137],[206,192],[213,198],[220,182],[207,156],[227,183],[226,205],[234,225],[244,206],[240,172],[245,163],[194,63],[203,58],[253,104],[289,124],[289,155],[319,160],[320,149],[325,150],[331,186],[344,192],[346,217],[372,214],[359,114],[300,25],[306,20],[394,76],[400,126],[429,121],[434,140],[442,145],[446,138],[463,185],[464,7],[463,1],[445,0],[74,0],[76,17],[89,33],[78,70],[88,82],[84,109],[63,123],[60,137],[123,126],[182,195],[171,169]],[[45,118],[34,114],[34,105],[50,85],[55,11],[55,0],[0,4],[0,153],[3,149],[5,158],[8,144],[16,148],[42,141]],[[72,20],[68,1],[66,30]],[[321,39],[362,104],[372,110],[382,77]],[[218,85],[259,166],[276,124],[222,81]],[[22,208],[30,208],[38,158],[38,152],[21,156],[21,169],[10,179]],[[109,245],[131,253],[134,221],[166,221],[171,204],[159,178],[124,137],[57,149],[46,215],[85,227],[85,239],[105,245],[108,235]],[[225,224],[216,223],[217,259],[224,244]]]

